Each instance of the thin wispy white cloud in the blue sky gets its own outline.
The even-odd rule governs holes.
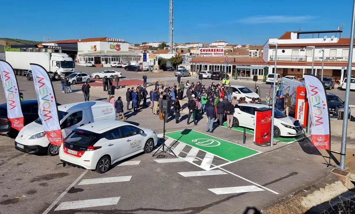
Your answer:
[[[314,20],[316,16],[250,16],[237,22],[247,24],[260,24],[260,23],[298,23]]]

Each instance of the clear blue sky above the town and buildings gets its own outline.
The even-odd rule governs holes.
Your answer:
[[[4,1],[0,37],[41,41],[111,37],[169,42],[169,0]],[[350,37],[350,0],[175,0],[174,42],[264,44],[285,31],[335,30]]]

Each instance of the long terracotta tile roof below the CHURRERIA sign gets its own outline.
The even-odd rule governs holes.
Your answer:
[[[235,61],[234,61],[235,58]],[[225,57],[194,57],[194,63],[224,64]],[[191,59],[191,60],[192,60]],[[190,61],[192,63],[192,61]],[[267,65],[261,57],[228,57],[228,63],[233,65]]]

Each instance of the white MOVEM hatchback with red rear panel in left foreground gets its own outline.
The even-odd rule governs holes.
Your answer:
[[[158,143],[152,129],[121,121],[99,121],[79,127],[60,146],[64,164],[104,173],[123,159],[150,153]]]

